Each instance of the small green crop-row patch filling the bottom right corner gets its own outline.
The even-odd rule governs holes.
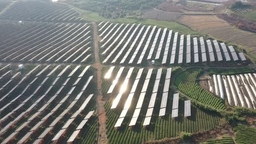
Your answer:
[[[255,128],[250,128],[246,125],[237,124],[233,127],[233,131],[236,131],[235,141],[236,144],[255,144],[256,140],[253,137],[256,133]]]

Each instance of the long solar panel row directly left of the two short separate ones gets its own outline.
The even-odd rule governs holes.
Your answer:
[[[163,90],[163,95],[162,95],[160,111],[159,111],[159,115],[158,115],[159,117],[165,115],[170,81],[171,81],[171,68],[168,68],[167,72],[166,72],[165,82],[164,82],[164,90]]]

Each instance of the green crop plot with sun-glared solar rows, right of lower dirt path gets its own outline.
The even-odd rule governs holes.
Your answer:
[[[214,128],[221,121],[217,114],[207,113],[194,105],[191,106],[191,116],[184,118],[185,99],[182,97],[177,99],[177,118],[171,118],[174,92],[167,85],[168,79],[174,78],[171,77],[170,69],[132,68],[131,71],[131,68],[115,66],[103,67],[102,73],[102,93],[108,99],[105,104],[107,137],[111,144],[140,144],[164,137],[175,137],[181,131],[204,131]],[[105,79],[106,74],[108,76]],[[115,83],[113,91],[108,93]],[[123,93],[121,98],[118,98],[120,91]],[[166,91],[167,98],[164,96]],[[118,104],[112,108],[116,99]],[[164,101],[166,101],[166,111],[159,117],[161,109],[165,108]],[[152,108],[153,111],[150,110]],[[150,113],[150,122],[143,126]],[[120,126],[119,121],[121,121]]]

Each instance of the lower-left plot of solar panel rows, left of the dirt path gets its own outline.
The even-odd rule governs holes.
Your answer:
[[[13,88],[1,98],[1,142],[95,143],[96,101],[86,91],[94,91],[94,69],[90,65],[32,66],[25,65],[24,70],[30,68],[25,76],[13,80],[18,86],[9,85]]]

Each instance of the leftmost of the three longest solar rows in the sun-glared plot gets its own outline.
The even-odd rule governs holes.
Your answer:
[[[134,82],[133,85],[132,85],[130,94],[129,94],[127,100],[125,101],[124,109],[123,109],[123,111],[121,112],[121,115],[119,116],[118,121],[115,123],[115,126],[114,126],[115,128],[121,126],[121,124],[122,124],[122,122],[123,122],[122,120],[125,118],[126,113],[127,113],[128,109],[130,108],[131,101],[132,101],[132,98],[133,98],[133,96],[134,96],[134,94],[135,94],[136,88],[137,88],[137,86],[138,86],[138,82],[139,82],[140,79],[141,79],[142,72],[143,72],[143,68],[142,68],[142,69],[139,69],[138,74],[137,74],[137,76],[136,76],[136,78],[135,78],[135,82]]]

